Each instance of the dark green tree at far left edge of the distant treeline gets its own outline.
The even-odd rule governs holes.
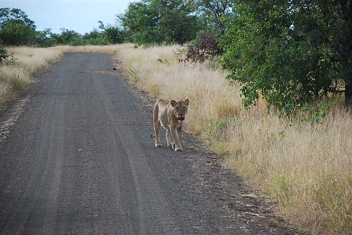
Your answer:
[[[0,39],[5,45],[28,45],[35,41],[34,22],[16,8],[0,8]]]

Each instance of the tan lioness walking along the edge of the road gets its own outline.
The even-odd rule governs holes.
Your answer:
[[[172,147],[175,151],[183,151],[181,146],[182,126],[187,114],[188,105],[190,100],[185,101],[171,100],[170,102],[165,99],[158,100],[154,105],[153,121],[155,134],[155,147],[162,147],[159,139],[159,130],[162,125],[166,129],[166,142],[168,147]],[[171,143],[170,134],[174,142]]]

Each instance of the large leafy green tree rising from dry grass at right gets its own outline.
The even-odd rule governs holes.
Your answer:
[[[233,1],[233,12],[223,18],[220,63],[240,82],[245,107],[259,94],[288,113],[322,95],[346,91],[348,99],[350,0]]]

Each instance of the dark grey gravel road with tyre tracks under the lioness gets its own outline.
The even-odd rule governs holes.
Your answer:
[[[118,66],[65,53],[1,109],[1,235],[297,233],[195,137],[154,147],[155,100]]]

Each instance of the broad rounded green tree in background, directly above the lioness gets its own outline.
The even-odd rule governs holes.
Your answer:
[[[138,45],[150,43],[184,44],[195,38],[197,19],[182,0],[141,0],[131,2],[118,16],[130,40]]]

